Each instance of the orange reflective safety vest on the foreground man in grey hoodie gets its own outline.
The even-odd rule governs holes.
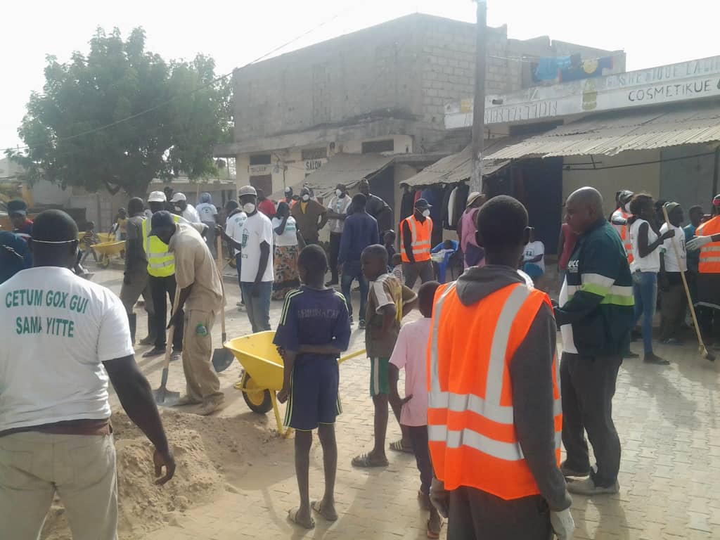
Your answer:
[[[505,500],[538,495],[513,416],[510,360],[544,292],[510,284],[464,306],[455,283],[435,295],[428,343],[428,438],[436,476],[447,490],[474,487]],[[560,463],[559,363],[552,364],[555,457]]]

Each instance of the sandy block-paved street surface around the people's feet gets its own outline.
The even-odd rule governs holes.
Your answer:
[[[118,291],[122,274],[98,271],[94,281]],[[244,312],[238,312],[238,287],[226,280],[228,336],[249,333]],[[356,303],[356,306],[359,303]],[[273,302],[271,322],[279,316]],[[415,312],[410,317],[417,317]],[[143,336],[138,316],[138,336]],[[219,341],[220,325],[213,330]],[[364,348],[363,336],[353,334],[350,351]],[[639,348],[634,344],[633,348]],[[141,353],[144,348],[138,348]],[[688,338],[681,347],[657,346],[669,359],[667,367],[649,366],[637,359],[624,361],[618,377],[614,418],[622,442],[618,495],[588,499],[575,495],[572,514],[576,539],[720,539],[720,427],[717,364],[699,358]],[[159,384],[161,360],[138,361],[150,384]],[[221,374],[228,402],[221,415],[243,415],[274,427],[274,418],[253,415],[232,384],[240,368],[234,364]],[[168,387],[182,390],[179,363],[171,365]],[[277,455],[253,463],[251,472],[209,505],[184,513],[172,525],[148,534],[145,540],[225,540],[242,538],[422,539],[426,513],[417,501],[419,477],[413,456],[389,452],[390,467],[354,469],[350,460],[372,444],[372,402],[368,363],[347,361],[341,367],[344,413],[338,418],[338,478],[336,496],[340,519],[328,524],[318,516],[315,531],[289,525],[287,510],[297,506],[293,444],[279,445]],[[114,403],[117,407],[117,401]],[[390,415],[388,441],[400,434]],[[178,472],[181,474],[181,471]],[[311,497],[323,490],[322,453],[317,439],[311,452]],[[444,534],[443,534],[444,537]]]

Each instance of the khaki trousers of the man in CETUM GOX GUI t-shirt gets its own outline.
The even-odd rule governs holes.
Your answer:
[[[117,482],[112,435],[0,437],[0,536],[40,538],[58,492],[73,540],[117,540]]]

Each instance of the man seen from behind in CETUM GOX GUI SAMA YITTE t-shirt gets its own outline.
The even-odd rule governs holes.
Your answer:
[[[0,285],[0,531],[40,537],[57,492],[74,539],[117,539],[108,380],[155,446],[157,481],[175,462],[138,370],[120,298],[71,272],[78,228],[65,212],[35,219],[35,266]]]

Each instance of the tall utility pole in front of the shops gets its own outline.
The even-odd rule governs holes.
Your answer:
[[[475,25],[475,95],[472,103],[472,176],[470,191],[482,192],[482,139],[485,134],[485,42],[487,0],[477,1]]]

